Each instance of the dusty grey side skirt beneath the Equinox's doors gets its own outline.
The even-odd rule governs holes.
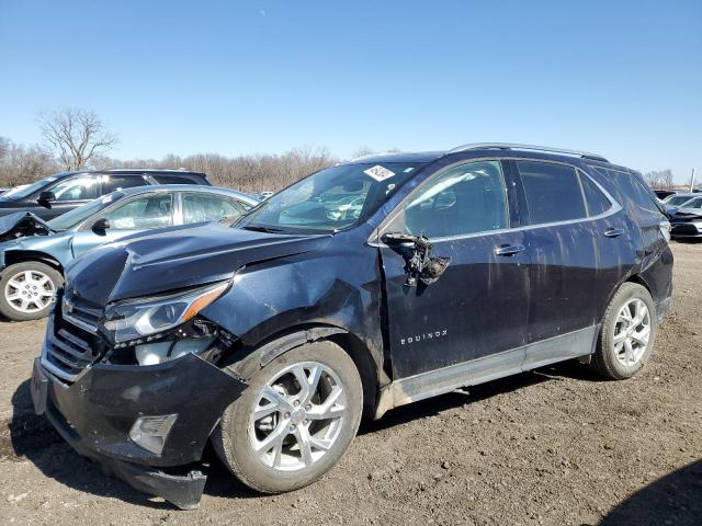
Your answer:
[[[599,328],[599,324],[588,327],[510,351],[395,380],[381,390],[375,419],[380,419],[393,408],[444,395],[460,387],[476,386],[556,362],[588,356],[595,352]]]

